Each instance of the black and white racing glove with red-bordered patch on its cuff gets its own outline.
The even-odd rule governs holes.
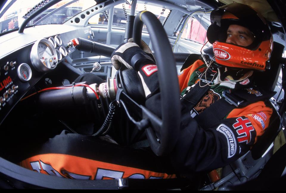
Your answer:
[[[156,73],[158,68],[153,54],[146,43],[144,43],[143,49],[149,53],[144,52],[136,43],[122,43],[111,54],[111,62],[117,70],[122,64],[128,69],[133,68],[136,70],[141,79],[145,97],[147,98],[158,90]]]

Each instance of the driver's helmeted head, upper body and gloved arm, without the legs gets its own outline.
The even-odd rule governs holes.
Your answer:
[[[273,112],[266,102],[271,94],[256,87],[252,76],[254,70],[264,71],[269,65],[273,38],[267,22],[239,3],[220,7],[210,17],[207,37],[215,61],[202,55],[178,76],[183,107],[180,136],[171,153],[178,172],[211,171],[243,156],[264,133]],[[145,105],[161,117],[156,62],[146,45],[143,50],[125,43],[111,61],[116,69],[124,64],[138,72]],[[226,107],[220,102],[225,102],[226,91],[247,102]]]

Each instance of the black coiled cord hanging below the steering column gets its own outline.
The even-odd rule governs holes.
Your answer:
[[[108,131],[111,129],[112,126],[112,120],[114,117],[114,112],[116,110],[116,101],[112,101],[109,105],[109,112],[107,114],[107,117],[105,118],[102,126],[100,127],[100,129],[93,134],[92,136],[104,136],[108,133]]]

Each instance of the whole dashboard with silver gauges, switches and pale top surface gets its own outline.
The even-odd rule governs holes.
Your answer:
[[[94,38],[90,27],[36,27],[38,28],[25,29],[23,34],[11,32],[0,37],[0,47],[4,48],[0,57],[0,124],[46,73],[57,68],[60,62],[76,50],[74,44],[78,42],[75,38]],[[47,30],[40,33],[43,29]],[[54,34],[55,31],[60,33]],[[18,42],[19,40],[21,41]]]

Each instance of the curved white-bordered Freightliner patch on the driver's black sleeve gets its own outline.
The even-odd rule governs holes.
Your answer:
[[[226,137],[228,150],[229,150],[227,158],[231,158],[232,156],[234,156],[236,149],[237,149],[237,144],[236,144],[236,140],[234,139],[233,132],[230,130],[230,128],[228,128],[224,124],[220,124],[217,127],[217,131],[219,131]]]

